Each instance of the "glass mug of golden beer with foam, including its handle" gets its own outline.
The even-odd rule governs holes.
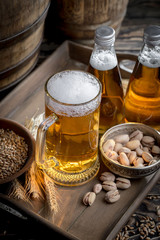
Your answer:
[[[45,84],[36,161],[60,185],[81,185],[98,173],[101,89],[96,77],[78,70],[59,72]]]

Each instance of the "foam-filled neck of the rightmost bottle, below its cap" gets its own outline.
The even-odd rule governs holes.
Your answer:
[[[153,46],[144,43],[139,56],[139,62],[149,68],[160,67],[160,45]]]

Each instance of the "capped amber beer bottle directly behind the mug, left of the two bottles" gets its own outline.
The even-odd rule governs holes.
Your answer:
[[[99,132],[123,122],[123,88],[117,56],[114,49],[115,31],[101,26],[95,32],[95,44],[88,71],[102,83]]]

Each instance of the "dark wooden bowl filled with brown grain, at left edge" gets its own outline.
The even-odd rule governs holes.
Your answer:
[[[16,121],[0,118],[0,184],[28,170],[35,156],[35,140]]]

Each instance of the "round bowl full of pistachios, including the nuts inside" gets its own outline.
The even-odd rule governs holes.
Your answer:
[[[113,173],[141,178],[160,168],[160,134],[141,123],[108,129],[100,139],[102,161]]]

